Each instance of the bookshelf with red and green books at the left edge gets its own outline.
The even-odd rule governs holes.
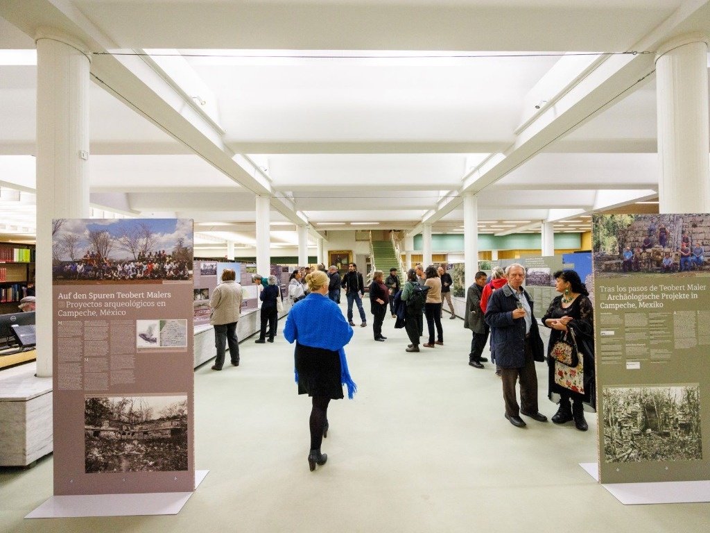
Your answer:
[[[28,284],[34,284],[34,274],[34,246],[0,242],[0,314],[18,311]]]

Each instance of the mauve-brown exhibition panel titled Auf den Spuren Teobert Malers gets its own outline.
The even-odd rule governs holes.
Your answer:
[[[195,490],[192,220],[53,221],[55,495]]]

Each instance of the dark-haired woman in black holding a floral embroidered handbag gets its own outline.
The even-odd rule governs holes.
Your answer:
[[[574,420],[579,431],[586,431],[583,404],[591,407],[591,411],[596,410],[594,308],[577,272],[558,271],[555,279],[555,289],[562,294],[552,300],[542,317],[542,323],[552,330],[547,345],[548,396],[552,402],[559,399],[559,409],[552,421],[564,424]]]

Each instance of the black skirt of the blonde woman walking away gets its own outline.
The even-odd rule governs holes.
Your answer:
[[[324,348],[312,348],[296,343],[296,372],[298,394],[342,399],[340,355]]]

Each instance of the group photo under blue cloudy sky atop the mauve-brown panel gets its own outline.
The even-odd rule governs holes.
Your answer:
[[[192,256],[192,220],[53,220],[54,284],[187,281]]]

